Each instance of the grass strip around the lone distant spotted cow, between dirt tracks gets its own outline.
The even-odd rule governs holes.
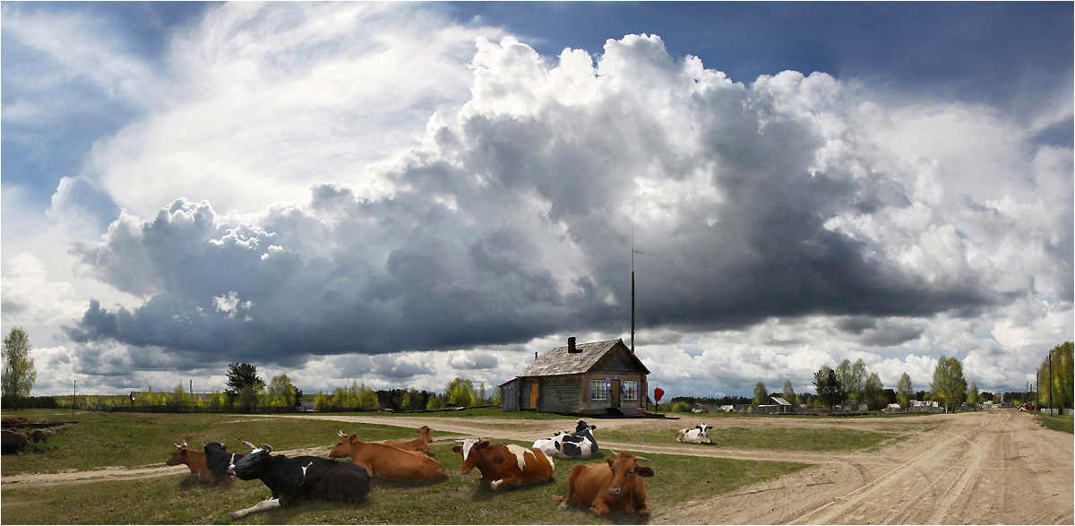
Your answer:
[[[600,427],[600,426],[599,426]],[[710,444],[698,444],[702,447],[727,447],[732,450],[766,450],[766,451],[854,451],[873,447],[886,440],[898,438],[899,433],[860,431],[854,429],[807,429],[807,428],[774,428],[747,429],[730,427],[710,430]],[[602,432],[599,440],[610,442],[631,442],[668,444],[675,439],[675,429],[625,431],[608,430]]]

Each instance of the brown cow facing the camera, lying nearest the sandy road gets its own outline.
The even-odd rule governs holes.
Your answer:
[[[612,450],[608,452],[616,455]],[[569,502],[578,502],[589,506],[598,515],[607,515],[611,510],[648,517],[643,478],[653,477],[654,468],[641,467],[639,460],[646,458],[620,453],[615,459],[605,457],[607,464],[576,464],[568,475],[568,495],[560,501],[560,509],[567,509]]]

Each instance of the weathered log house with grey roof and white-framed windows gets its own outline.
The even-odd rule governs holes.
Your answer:
[[[562,347],[538,356],[514,379],[500,385],[504,411],[577,415],[646,413],[649,369],[624,344],[606,340]]]

